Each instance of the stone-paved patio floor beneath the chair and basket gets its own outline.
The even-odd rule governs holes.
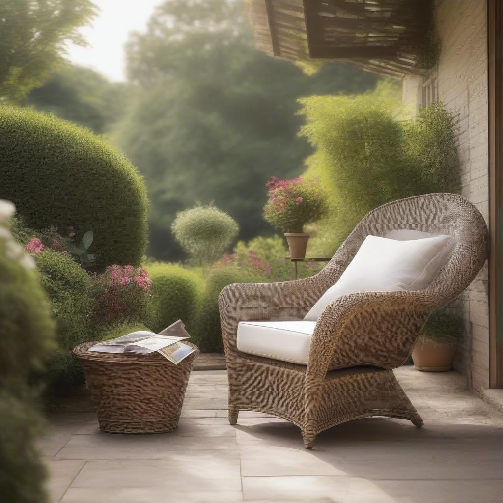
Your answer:
[[[297,427],[242,411],[227,421],[225,371],[193,372],[176,432],[102,433],[87,392],[65,400],[40,445],[53,502],[501,503],[503,418],[456,372],[396,375],[425,427],[374,417],[305,450]]]

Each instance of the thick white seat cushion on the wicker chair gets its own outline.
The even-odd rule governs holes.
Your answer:
[[[250,355],[307,365],[316,321],[241,321],[237,349]]]

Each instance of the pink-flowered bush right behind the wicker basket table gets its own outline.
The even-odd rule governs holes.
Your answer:
[[[107,267],[103,274],[94,276],[96,319],[105,325],[145,319],[151,286],[146,269]]]

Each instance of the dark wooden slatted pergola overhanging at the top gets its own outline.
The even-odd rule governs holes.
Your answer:
[[[432,0],[246,0],[260,49],[401,78],[428,67]]]

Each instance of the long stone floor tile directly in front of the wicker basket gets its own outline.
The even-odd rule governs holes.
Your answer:
[[[172,451],[236,449],[233,437],[159,435],[73,435],[55,459],[166,459]]]

